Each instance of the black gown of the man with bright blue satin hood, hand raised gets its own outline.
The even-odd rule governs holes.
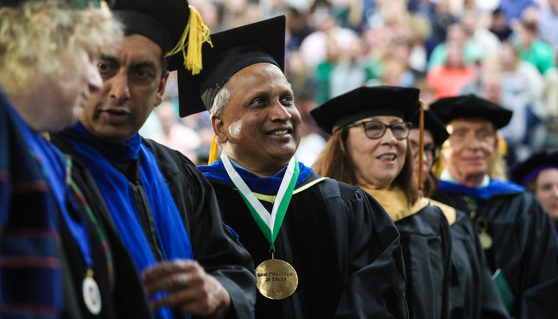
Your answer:
[[[80,139],[76,134],[65,131],[52,137],[52,141],[64,153],[73,156],[73,178],[89,203],[92,203],[93,211],[98,219],[103,221],[107,233],[110,233],[110,236],[122,247],[123,244],[103,196],[96,187],[91,173],[80,161],[80,155],[75,153],[66,138]],[[220,212],[211,185],[199,173],[195,165],[178,151],[148,139],[142,141],[155,155],[159,169],[169,185],[190,237],[194,259],[227,289],[231,297],[227,318],[250,318],[255,299],[255,275],[252,260],[234,234],[220,220]],[[133,165],[135,165],[135,161],[129,163],[128,168]],[[158,260],[162,260],[157,236],[153,232],[155,230],[153,216],[149,203],[146,201],[141,176],[137,171],[129,175],[131,176],[128,176],[128,179],[133,189],[135,205],[144,233],[149,240],[154,256]],[[122,251],[126,250],[122,247]],[[127,251],[126,254],[128,254]],[[129,263],[127,266],[134,270],[131,272],[130,269],[127,275],[139,280],[135,265]],[[137,284],[134,286],[143,291],[141,283],[139,286]],[[123,292],[123,294],[126,293]],[[176,312],[176,317],[180,318],[178,312]]]

